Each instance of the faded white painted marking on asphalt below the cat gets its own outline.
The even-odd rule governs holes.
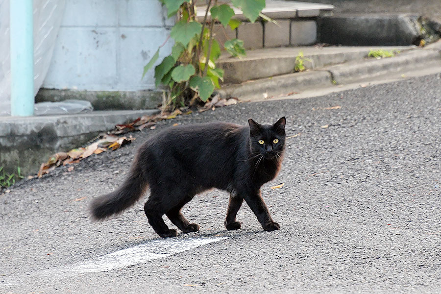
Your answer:
[[[55,272],[99,272],[122,269],[144,263],[153,259],[159,259],[181,253],[198,246],[219,242],[228,237],[195,237],[185,239],[162,239],[149,241],[134,247],[122,249],[85,262],[66,266],[62,269],[51,269],[45,273]]]

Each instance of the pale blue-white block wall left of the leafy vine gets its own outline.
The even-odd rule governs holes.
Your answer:
[[[43,88],[89,91],[154,89],[153,72],[141,76],[174,19],[159,0],[66,0]],[[168,40],[160,58],[171,52]]]

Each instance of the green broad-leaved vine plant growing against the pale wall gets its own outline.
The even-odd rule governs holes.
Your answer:
[[[262,17],[265,0],[232,0],[231,4],[209,0],[202,22],[196,20],[195,0],[160,1],[166,6],[169,18],[177,15],[169,36],[175,42],[172,53],[154,68],[155,86],[165,85],[169,90],[163,111],[206,102],[215,88],[220,88],[219,80],[223,81],[224,74],[216,67],[221,45],[214,39],[215,22],[231,30],[241,25],[233,18],[235,13],[231,6],[234,6],[254,23],[259,16]],[[164,45],[144,67],[143,77],[158,60],[159,50]],[[244,41],[239,39],[226,41],[223,48],[232,56],[245,55]]]

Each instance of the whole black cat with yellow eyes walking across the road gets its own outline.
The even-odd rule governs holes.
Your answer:
[[[148,222],[161,237],[175,237],[164,214],[184,233],[196,232],[181,208],[211,188],[230,193],[225,227],[237,230],[236,214],[246,201],[266,231],[279,229],[260,194],[260,187],[278,173],[285,147],[285,117],[277,123],[249,127],[204,123],[170,127],[140,147],[123,184],[91,204],[95,219],[104,219],[133,205],[150,188],[144,205]]]

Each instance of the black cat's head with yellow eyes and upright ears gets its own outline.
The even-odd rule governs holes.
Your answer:
[[[252,154],[264,155],[266,159],[278,158],[285,148],[285,117],[274,124],[259,124],[248,120],[249,144]]]

